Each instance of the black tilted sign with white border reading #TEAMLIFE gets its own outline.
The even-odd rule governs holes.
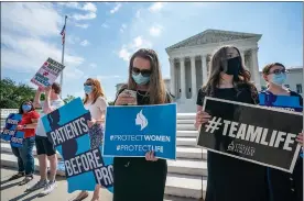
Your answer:
[[[259,165],[292,172],[301,146],[303,114],[206,97],[211,115],[202,125],[197,145]]]

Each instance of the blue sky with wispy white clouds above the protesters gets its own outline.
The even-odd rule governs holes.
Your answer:
[[[260,69],[271,62],[303,64],[301,2],[2,2],[2,78],[30,83],[47,57],[61,62],[65,14],[64,97],[83,97],[84,81],[95,77],[113,100],[115,86],[127,81],[128,58],[140,47],[159,53],[169,78],[165,48],[207,29],[263,34]]]

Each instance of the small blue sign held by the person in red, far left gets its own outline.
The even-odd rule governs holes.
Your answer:
[[[23,146],[24,132],[17,131],[17,125],[21,122],[22,115],[17,113],[11,113],[6,120],[6,127],[1,133],[1,138],[4,141],[10,141],[13,147]]]

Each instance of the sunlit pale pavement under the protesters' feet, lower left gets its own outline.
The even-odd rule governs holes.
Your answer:
[[[11,169],[7,167],[1,167],[1,201],[72,201],[79,191],[73,193],[67,193],[67,182],[64,177],[57,176],[57,188],[48,196],[39,198],[37,194],[41,190],[33,192],[24,192],[25,186],[18,186],[23,179],[17,179],[13,181],[8,181],[8,179],[17,172],[17,169]],[[37,172],[35,172],[34,179],[30,182],[36,182],[40,179]],[[89,197],[85,201],[90,201],[93,192],[89,192]],[[100,190],[100,201],[112,201],[112,194],[105,190]],[[165,196],[164,201],[197,201],[195,199],[176,198]]]

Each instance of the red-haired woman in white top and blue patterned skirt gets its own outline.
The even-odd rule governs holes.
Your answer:
[[[90,148],[101,145],[104,134],[105,113],[108,107],[104,89],[97,79],[88,78],[84,83],[85,100],[84,105],[89,110],[91,120],[88,121]],[[91,201],[99,200],[100,185],[96,185]],[[88,197],[87,191],[82,191],[74,201],[80,201]]]

